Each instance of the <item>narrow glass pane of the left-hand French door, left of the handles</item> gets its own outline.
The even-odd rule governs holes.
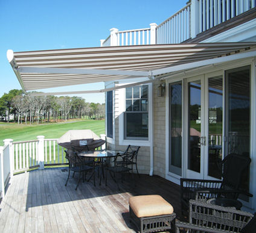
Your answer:
[[[188,82],[188,169],[200,173],[201,81]]]

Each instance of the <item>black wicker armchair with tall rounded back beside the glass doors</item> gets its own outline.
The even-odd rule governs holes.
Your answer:
[[[241,189],[242,173],[248,169],[251,158],[244,155],[229,154],[222,160],[222,181],[206,179],[181,178],[181,208],[188,210],[190,199],[210,199],[213,197],[227,197],[237,199],[243,193],[252,194]]]

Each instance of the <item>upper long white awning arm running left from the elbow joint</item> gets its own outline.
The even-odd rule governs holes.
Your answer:
[[[76,68],[46,68],[46,67],[28,67],[18,68],[20,73],[69,73],[76,75],[129,75],[129,76],[150,76],[147,71],[132,70],[101,70],[101,69],[76,69]]]

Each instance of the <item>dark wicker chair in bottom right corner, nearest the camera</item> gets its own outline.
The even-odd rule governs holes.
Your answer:
[[[235,208],[190,200],[189,223],[176,222],[176,232],[255,232],[256,217]]]

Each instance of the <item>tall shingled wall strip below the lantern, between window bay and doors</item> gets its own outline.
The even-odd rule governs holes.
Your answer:
[[[165,177],[165,97],[154,85],[154,175]]]

